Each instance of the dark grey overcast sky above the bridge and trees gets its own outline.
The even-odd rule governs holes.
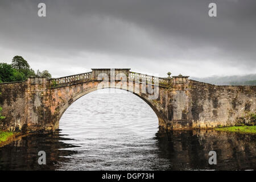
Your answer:
[[[46,17],[38,3],[46,3]],[[208,5],[217,4],[217,17]],[[255,0],[0,1],[0,61],[53,77],[131,68],[166,77],[256,73]]]

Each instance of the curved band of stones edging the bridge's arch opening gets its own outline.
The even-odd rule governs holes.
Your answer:
[[[161,114],[159,113],[159,111],[156,109],[156,107],[154,106],[152,100],[148,100],[147,99],[147,96],[146,94],[143,94],[143,93],[134,93],[134,92],[131,92],[130,90],[127,90],[127,89],[122,89],[122,88],[115,88],[115,86],[113,85],[110,85],[110,86],[106,86],[105,88],[101,88],[101,89],[108,89],[108,88],[114,88],[114,89],[121,89],[121,90],[126,90],[127,92],[130,92],[130,93],[133,93],[135,94],[135,96],[138,96],[139,98],[141,98],[143,101],[145,101],[151,108],[152,110],[155,112],[156,116],[158,117],[158,121],[159,121],[159,124],[160,123],[163,123],[163,118],[161,116]],[[81,98],[82,96],[88,94],[88,93],[91,93],[91,92],[94,92],[96,90],[99,90],[98,86],[94,86],[93,88],[90,88],[90,89],[87,89],[85,92],[82,92],[80,94],[77,94],[75,97],[71,98],[63,107],[61,107],[60,111],[59,111],[59,115],[57,116],[56,118],[56,122],[53,123],[53,125],[55,126],[55,129],[59,128],[59,121],[60,121],[60,118],[62,117],[62,115],[65,113],[65,110],[68,109],[69,106],[71,106],[73,104],[73,102],[75,102],[76,100],[78,100],[79,98]]]

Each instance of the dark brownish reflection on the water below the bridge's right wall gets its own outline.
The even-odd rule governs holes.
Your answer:
[[[256,169],[256,135],[214,130],[158,133],[159,158],[168,169]],[[209,165],[208,152],[216,151],[217,165]]]

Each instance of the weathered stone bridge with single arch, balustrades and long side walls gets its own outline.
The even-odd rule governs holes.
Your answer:
[[[256,86],[217,86],[188,76],[161,78],[130,69],[92,69],[60,78],[28,78],[0,84],[0,106],[6,118],[0,129],[50,132],[77,99],[102,88],[127,90],[142,98],[166,130],[232,126],[255,113]],[[72,121],[71,121],[72,122]]]

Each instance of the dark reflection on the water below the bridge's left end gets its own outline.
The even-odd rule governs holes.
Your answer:
[[[75,147],[60,142],[61,135],[29,135],[0,148],[0,170],[54,170],[68,159],[63,156],[76,154],[72,150],[60,148]],[[38,164],[38,152],[46,152],[46,165]]]

